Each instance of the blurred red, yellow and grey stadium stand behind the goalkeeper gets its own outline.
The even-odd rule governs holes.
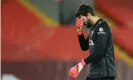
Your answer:
[[[87,57],[77,39],[82,0],[2,0],[2,80],[72,80],[68,71]],[[116,80],[133,80],[133,0],[84,0],[113,32]],[[85,32],[87,34],[87,32]],[[85,80],[89,65],[77,80]]]

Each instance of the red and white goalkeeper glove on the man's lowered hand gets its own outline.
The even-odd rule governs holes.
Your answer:
[[[84,66],[86,66],[86,63],[82,59],[81,62],[70,69],[69,76],[72,78],[77,78]]]

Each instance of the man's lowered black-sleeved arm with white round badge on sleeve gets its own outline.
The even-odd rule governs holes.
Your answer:
[[[103,29],[103,31],[100,31]],[[98,28],[95,33],[96,41],[94,42],[94,48],[90,50],[91,55],[84,59],[86,64],[89,64],[93,61],[99,61],[104,56],[104,51],[107,44],[107,30],[104,27]]]

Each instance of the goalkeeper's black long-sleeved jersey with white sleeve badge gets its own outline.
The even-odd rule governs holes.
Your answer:
[[[79,44],[83,51],[89,49],[90,55],[84,59],[86,64],[90,63],[89,77],[114,77],[115,61],[112,32],[109,25],[99,19],[89,30],[87,38],[78,35]]]

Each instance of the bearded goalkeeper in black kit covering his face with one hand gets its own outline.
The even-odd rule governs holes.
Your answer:
[[[114,46],[109,25],[95,15],[89,5],[81,5],[76,12],[76,26],[79,44],[90,55],[70,69],[69,75],[77,78],[80,71],[90,64],[90,73],[86,80],[114,80],[116,76]],[[83,25],[89,29],[88,37],[83,35]]]

